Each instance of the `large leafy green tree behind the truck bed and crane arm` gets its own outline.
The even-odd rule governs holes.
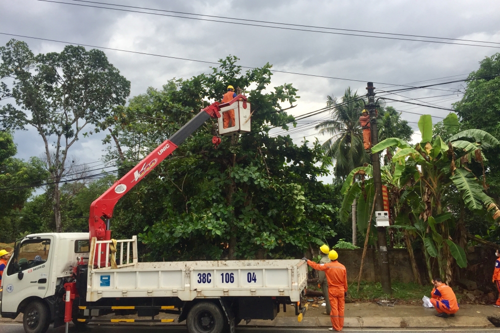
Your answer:
[[[227,57],[209,74],[150,88],[110,118],[116,141],[108,157],[119,161],[117,142],[126,168],[209,100],[220,100],[228,84],[251,103],[251,133],[222,137],[214,149],[216,122],[207,121],[116,206],[114,235],[139,233],[150,259],[300,257],[335,236],[332,189],[316,179],[328,173],[330,159],[318,142],[295,145],[289,136],[267,134],[293,122],[281,103],[294,102],[296,89],[270,89],[269,64],[242,72],[236,60]]]

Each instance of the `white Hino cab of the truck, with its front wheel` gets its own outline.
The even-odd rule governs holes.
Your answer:
[[[17,240],[1,280],[1,317],[14,319],[24,313],[31,319],[23,321],[24,326],[48,327],[57,317],[58,293],[64,291],[72,267],[79,258],[88,258],[88,237],[88,233],[45,233]]]

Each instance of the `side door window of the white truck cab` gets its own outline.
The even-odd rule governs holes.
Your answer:
[[[49,239],[29,239],[16,246],[14,258],[7,268],[7,275],[12,275],[35,266],[44,264],[50,250]]]

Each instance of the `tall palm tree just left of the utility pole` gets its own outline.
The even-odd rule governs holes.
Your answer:
[[[326,106],[333,107],[331,119],[319,123],[315,129],[319,134],[329,134],[322,147],[333,157],[335,166],[333,174],[345,179],[352,169],[369,163],[369,156],[363,147],[363,131],[359,124],[359,116],[364,107],[364,101],[357,91],[352,93],[350,87],[345,89],[342,102],[337,103],[336,97],[326,96]],[[356,201],[352,203],[352,244],[356,245]]]

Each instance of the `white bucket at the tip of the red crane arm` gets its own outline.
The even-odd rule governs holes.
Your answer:
[[[230,102],[220,104],[218,118],[219,135],[234,135],[250,131],[250,103],[243,95],[237,95]]]

